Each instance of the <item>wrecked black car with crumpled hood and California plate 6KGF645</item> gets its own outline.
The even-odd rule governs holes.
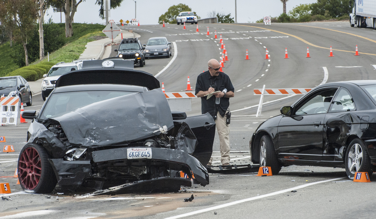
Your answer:
[[[209,183],[213,118],[171,112],[159,81],[131,61],[83,61],[58,79],[38,115],[23,117],[33,119],[18,159],[26,192],[50,193],[56,183],[97,193]]]

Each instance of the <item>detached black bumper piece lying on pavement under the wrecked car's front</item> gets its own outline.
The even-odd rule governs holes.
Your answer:
[[[191,187],[191,180],[180,177],[159,177],[155,179],[126,183],[105,190],[98,190],[90,195],[118,195],[135,192],[178,192],[180,190],[180,186]]]

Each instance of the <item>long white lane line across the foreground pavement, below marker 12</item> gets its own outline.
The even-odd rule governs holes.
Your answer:
[[[191,212],[188,212],[188,213],[185,213],[185,214],[179,214],[179,215],[172,216],[172,217],[166,217],[165,219],[175,219],[175,218],[180,218],[180,217],[191,216],[191,215],[194,215],[194,214],[200,214],[200,213],[204,213],[204,212],[207,212],[207,211],[212,211],[212,210],[216,210],[216,209],[219,209],[219,208],[228,207],[228,206],[231,206],[231,205],[236,205],[236,204],[240,204],[240,203],[247,202],[247,201],[253,201],[253,200],[256,200],[256,199],[266,198],[266,197],[273,196],[273,195],[279,195],[279,194],[282,194],[282,193],[285,193],[285,192],[290,192],[292,190],[302,189],[304,187],[313,186],[315,184],[326,183],[326,182],[335,181],[335,180],[344,179],[344,178],[346,178],[346,177],[327,179],[327,180],[318,181],[318,182],[314,182],[314,183],[307,183],[307,184],[296,186],[296,187],[293,187],[293,188],[290,188],[290,189],[284,189],[284,190],[280,190],[280,191],[277,191],[277,192],[268,193],[268,194],[265,194],[265,195],[241,199],[241,200],[238,200],[238,201],[233,201],[233,202],[229,202],[229,203],[226,203],[226,204],[221,204],[221,205],[217,205],[217,206],[213,206],[213,207],[209,207],[209,208],[204,208],[204,209],[197,210],[197,211],[191,211]]]

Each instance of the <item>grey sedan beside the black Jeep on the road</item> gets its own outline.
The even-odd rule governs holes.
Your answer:
[[[168,42],[165,37],[152,37],[150,38],[146,45],[145,58],[150,57],[166,57],[170,58],[171,54],[171,43]]]

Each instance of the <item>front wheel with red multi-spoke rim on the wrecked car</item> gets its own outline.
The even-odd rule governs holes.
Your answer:
[[[18,157],[18,179],[27,193],[51,193],[57,179],[48,159],[50,156],[39,144],[27,143]]]

